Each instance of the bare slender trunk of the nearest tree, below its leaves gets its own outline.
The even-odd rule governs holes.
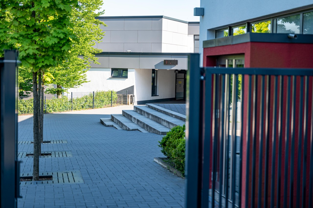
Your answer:
[[[33,180],[39,180],[39,117],[38,117],[38,91],[37,91],[37,72],[33,72],[33,136],[34,136],[34,161],[33,161]]]

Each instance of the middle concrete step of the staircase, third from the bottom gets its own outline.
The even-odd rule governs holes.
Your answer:
[[[163,126],[162,124],[157,123],[144,115],[134,111],[134,110],[122,110],[123,116],[127,119],[131,120],[135,124],[138,124],[142,128],[146,129],[147,131],[155,134],[166,134],[171,129]]]

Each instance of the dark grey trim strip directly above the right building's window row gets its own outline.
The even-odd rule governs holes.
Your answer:
[[[282,11],[282,12],[272,13],[272,14],[264,15],[264,16],[257,17],[257,18],[243,20],[243,21],[240,21],[240,22],[233,23],[231,25],[223,25],[223,26],[218,26],[216,28],[209,28],[209,30],[216,30],[216,29],[227,28],[228,26],[236,26],[236,25],[247,23],[247,22],[255,22],[255,21],[258,21],[258,20],[273,18],[273,17],[276,17],[276,16],[288,14],[288,13],[295,13],[295,12],[298,12],[298,11],[300,12],[301,10],[306,10],[306,9],[311,9],[311,8],[313,8],[313,4],[306,5],[306,6],[303,6],[303,7],[293,8],[293,9],[289,9],[289,10],[285,10],[285,11]]]

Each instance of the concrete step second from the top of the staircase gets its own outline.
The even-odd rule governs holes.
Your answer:
[[[175,126],[182,126],[185,124],[185,121],[158,112],[157,110],[151,109],[147,106],[142,105],[134,106],[134,111],[170,129],[174,128]]]

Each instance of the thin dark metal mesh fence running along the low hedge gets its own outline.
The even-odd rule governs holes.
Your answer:
[[[33,98],[19,97],[18,114],[33,113]],[[63,112],[71,110],[94,109],[127,104],[127,90],[76,92],[62,98],[44,98],[44,112]]]

